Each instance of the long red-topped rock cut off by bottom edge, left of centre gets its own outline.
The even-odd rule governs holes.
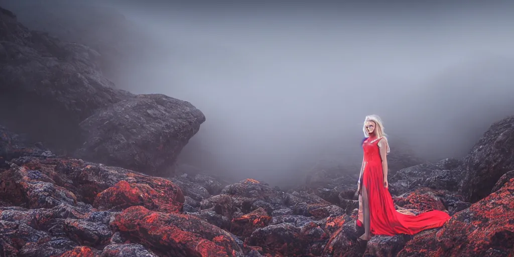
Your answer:
[[[228,232],[191,215],[134,206],[117,215],[111,226],[160,256],[243,256]]]

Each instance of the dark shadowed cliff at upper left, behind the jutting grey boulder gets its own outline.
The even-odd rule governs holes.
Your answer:
[[[9,110],[0,112],[0,121],[56,148],[73,148],[80,121],[131,97],[101,75],[98,56],[29,30],[0,8],[0,109]]]

